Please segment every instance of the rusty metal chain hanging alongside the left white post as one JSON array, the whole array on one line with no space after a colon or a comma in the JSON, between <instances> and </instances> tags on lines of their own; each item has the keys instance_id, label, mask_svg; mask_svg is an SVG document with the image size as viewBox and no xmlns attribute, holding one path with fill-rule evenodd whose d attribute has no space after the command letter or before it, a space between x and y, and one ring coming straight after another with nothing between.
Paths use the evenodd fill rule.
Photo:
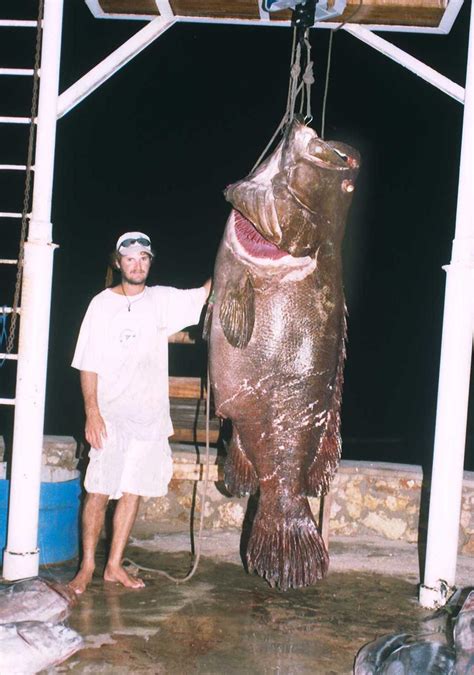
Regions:
<instances>
[{"instance_id":1,"label":"rusty metal chain hanging alongside the left white post","mask_svg":"<svg viewBox=\"0 0 474 675\"><path fill-rule=\"evenodd\" d=\"M23 277L25 240L28 226L28 215L30 210L31 178L32 178L31 166L33 162L33 149L35 145L35 136L36 136L36 116L38 114L39 70L41 63L41 38L42 38L43 15L44 15L44 0L39 0L38 23L36 28L35 69L33 75L33 94L31 100L31 121L30 121L30 133L28 138L28 159L26 163L25 191L23 193L23 209L21 212L20 245L18 250L18 265L16 270L15 294L13 297L13 305L12 305L13 311L10 317L10 329L8 332L8 340L6 346L7 354L11 354L15 344L16 325L18 321L18 303L20 301L21 280Z\"/></svg>"}]
</instances>

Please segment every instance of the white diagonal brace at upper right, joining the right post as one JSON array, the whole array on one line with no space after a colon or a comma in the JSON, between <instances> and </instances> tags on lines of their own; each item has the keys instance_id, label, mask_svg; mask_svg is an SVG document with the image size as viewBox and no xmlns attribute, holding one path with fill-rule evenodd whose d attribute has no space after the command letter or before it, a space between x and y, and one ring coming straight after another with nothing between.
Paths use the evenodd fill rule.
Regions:
<instances>
[{"instance_id":1,"label":"white diagonal brace at upper right, joining the right post","mask_svg":"<svg viewBox=\"0 0 474 675\"><path fill-rule=\"evenodd\" d=\"M373 47L381 54L388 56L389 59L392 59L404 68L410 70L412 73L415 73L415 75L418 75L418 77L421 77L426 82L429 82L434 87L437 87L445 94L448 94L448 96L456 99L456 101L464 103L463 87L461 87L459 84L456 84L448 77L441 75L436 70L434 70L434 68L427 66L426 63L415 59L414 56L410 56L410 54L404 52L403 49L396 47L391 42L384 40L362 26L352 26L350 24L346 24L343 26L342 30L345 30L347 33L350 33L350 35L353 35L357 39L362 40L362 42L365 42L365 44Z\"/></svg>"}]
</instances>

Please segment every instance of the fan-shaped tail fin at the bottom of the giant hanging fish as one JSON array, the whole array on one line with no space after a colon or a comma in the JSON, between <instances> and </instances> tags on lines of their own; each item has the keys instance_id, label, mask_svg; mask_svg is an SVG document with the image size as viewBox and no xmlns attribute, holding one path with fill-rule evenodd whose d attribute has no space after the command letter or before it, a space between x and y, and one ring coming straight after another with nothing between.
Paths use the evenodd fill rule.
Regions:
<instances>
[{"instance_id":1,"label":"fan-shaped tail fin at the bottom of the giant hanging fish","mask_svg":"<svg viewBox=\"0 0 474 675\"><path fill-rule=\"evenodd\" d=\"M289 513L275 506L271 495L261 493L247 548L249 572L283 591L314 584L326 575L329 555L308 500L293 498Z\"/></svg>"}]
</instances>

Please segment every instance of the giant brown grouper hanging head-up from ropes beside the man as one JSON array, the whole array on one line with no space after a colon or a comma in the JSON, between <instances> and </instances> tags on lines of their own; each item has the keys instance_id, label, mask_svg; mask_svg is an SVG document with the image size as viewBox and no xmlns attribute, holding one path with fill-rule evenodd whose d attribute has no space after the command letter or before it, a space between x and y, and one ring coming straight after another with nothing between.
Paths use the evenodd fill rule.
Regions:
<instances>
[{"instance_id":1,"label":"giant brown grouper hanging head-up from ropes beside the man","mask_svg":"<svg viewBox=\"0 0 474 675\"><path fill-rule=\"evenodd\" d=\"M232 204L214 272L210 372L232 421L228 490L259 491L247 566L271 586L321 579L329 557L308 496L327 492L339 433L345 302L341 242L359 154L298 120Z\"/></svg>"}]
</instances>

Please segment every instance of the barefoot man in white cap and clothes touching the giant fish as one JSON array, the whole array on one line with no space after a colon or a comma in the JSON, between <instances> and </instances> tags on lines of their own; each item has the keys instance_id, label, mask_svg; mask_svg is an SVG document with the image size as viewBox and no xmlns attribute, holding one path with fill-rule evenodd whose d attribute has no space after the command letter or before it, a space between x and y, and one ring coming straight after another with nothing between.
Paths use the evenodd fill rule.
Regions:
<instances>
[{"instance_id":1,"label":"barefoot man in white cap and clothes touching the giant fish","mask_svg":"<svg viewBox=\"0 0 474 675\"><path fill-rule=\"evenodd\" d=\"M113 265L120 283L96 295L82 322L72 366L80 370L91 445L82 514L83 557L70 582L83 593L109 499L117 499L105 581L142 588L122 566L141 496L165 495L172 476L168 336L199 321L211 281L179 290L146 286L153 259L143 232L119 237Z\"/></svg>"}]
</instances>

